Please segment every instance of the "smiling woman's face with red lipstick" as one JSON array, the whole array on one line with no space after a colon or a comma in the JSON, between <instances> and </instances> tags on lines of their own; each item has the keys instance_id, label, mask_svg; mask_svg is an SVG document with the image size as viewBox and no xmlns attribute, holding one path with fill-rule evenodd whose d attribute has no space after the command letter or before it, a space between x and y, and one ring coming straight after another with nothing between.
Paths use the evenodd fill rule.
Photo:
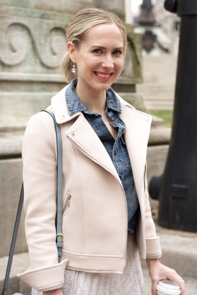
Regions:
<instances>
[{"instance_id":1,"label":"smiling woman's face with red lipstick","mask_svg":"<svg viewBox=\"0 0 197 295\"><path fill-rule=\"evenodd\" d=\"M115 24L100 24L86 32L79 49L74 49L78 84L83 90L105 91L123 68L123 35Z\"/></svg>"}]
</instances>

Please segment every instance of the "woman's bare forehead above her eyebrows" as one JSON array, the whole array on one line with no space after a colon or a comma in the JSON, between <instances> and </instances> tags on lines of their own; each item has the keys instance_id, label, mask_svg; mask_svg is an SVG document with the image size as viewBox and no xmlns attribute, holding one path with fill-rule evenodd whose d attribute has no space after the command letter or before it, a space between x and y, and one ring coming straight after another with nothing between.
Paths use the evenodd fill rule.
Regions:
<instances>
[{"instance_id":1,"label":"woman's bare forehead above her eyebrows","mask_svg":"<svg viewBox=\"0 0 197 295\"><path fill-rule=\"evenodd\" d=\"M123 47L123 34L116 24L99 24L89 28L86 32L84 41L92 45L97 43L113 43L115 46ZM83 43L83 42L82 42Z\"/></svg>"}]
</instances>

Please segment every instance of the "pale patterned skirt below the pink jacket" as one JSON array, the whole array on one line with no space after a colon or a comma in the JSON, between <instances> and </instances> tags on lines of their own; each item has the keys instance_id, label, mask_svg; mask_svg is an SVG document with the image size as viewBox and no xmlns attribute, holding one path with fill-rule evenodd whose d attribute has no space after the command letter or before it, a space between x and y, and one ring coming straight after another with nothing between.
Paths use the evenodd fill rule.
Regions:
<instances>
[{"instance_id":1,"label":"pale patterned skirt below the pink jacket","mask_svg":"<svg viewBox=\"0 0 197 295\"><path fill-rule=\"evenodd\" d=\"M128 234L127 263L123 274L85 273L66 269L64 295L146 295L134 234ZM42 295L32 289L32 295Z\"/></svg>"}]
</instances>

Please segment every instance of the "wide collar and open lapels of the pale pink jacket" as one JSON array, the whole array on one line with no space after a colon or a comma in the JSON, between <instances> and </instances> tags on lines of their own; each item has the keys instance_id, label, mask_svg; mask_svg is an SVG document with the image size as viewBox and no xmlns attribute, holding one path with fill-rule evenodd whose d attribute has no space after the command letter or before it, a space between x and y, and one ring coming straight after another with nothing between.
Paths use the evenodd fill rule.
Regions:
<instances>
[{"instance_id":1,"label":"wide collar and open lapels of the pale pink jacket","mask_svg":"<svg viewBox=\"0 0 197 295\"><path fill-rule=\"evenodd\" d=\"M110 156L82 112L69 115L65 100L66 87L51 99L57 123L66 123L78 117L69 130L67 130L67 138L88 158L101 165L119 180L118 173ZM131 161L137 195L140 196L152 117L149 114L137 111L129 104L127 105L121 98L120 100L122 103L122 113L120 113L120 116L126 124L124 138Z\"/></svg>"}]
</instances>

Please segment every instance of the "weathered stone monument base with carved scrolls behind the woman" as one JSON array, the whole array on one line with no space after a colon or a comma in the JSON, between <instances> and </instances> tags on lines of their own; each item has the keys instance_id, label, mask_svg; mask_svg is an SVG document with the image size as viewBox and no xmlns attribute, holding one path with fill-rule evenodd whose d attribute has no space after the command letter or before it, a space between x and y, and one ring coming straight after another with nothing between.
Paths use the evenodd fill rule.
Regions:
<instances>
[{"instance_id":1,"label":"weathered stone monument base with carved scrolls behind the woman","mask_svg":"<svg viewBox=\"0 0 197 295\"><path fill-rule=\"evenodd\" d=\"M4 0L0 4L0 257L9 254L22 184L21 148L29 118L50 105L65 85L60 63L66 52L65 30L85 7L115 11L124 19L124 0ZM129 27L132 42L115 91L134 92L142 81L141 39ZM25 213L16 253L27 250Z\"/></svg>"}]
</instances>

